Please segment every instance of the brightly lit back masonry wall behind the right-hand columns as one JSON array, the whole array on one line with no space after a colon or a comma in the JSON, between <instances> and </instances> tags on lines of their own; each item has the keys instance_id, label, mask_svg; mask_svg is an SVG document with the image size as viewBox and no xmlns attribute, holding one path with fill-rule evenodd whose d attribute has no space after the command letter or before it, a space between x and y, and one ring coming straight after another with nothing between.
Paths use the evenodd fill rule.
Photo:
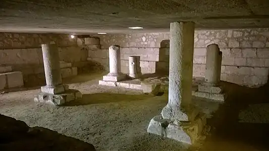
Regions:
<instances>
[{"instance_id":1,"label":"brightly lit back masonry wall behind the right-hand columns","mask_svg":"<svg viewBox=\"0 0 269 151\"><path fill-rule=\"evenodd\" d=\"M106 68L109 65L107 49L117 44L122 47L123 72L128 72L128 57L139 55L143 73L168 73L169 33L95 36L100 38L101 49L89 52L89 57L100 61ZM206 46L217 43L223 52L221 80L249 87L267 82L269 29L195 31L194 36L194 77L204 77Z\"/></svg>"}]
</instances>

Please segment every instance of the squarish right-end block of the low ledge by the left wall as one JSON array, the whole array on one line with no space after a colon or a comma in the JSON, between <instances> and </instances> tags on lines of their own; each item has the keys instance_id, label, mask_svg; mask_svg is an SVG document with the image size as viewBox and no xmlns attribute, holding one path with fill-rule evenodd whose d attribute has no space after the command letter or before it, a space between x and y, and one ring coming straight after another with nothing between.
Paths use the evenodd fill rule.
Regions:
<instances>
[{"instance_id":1,"label":"squarish right-end block of the low ledge by the left wall","mask_svg":"<svg viewBox=\"0 0 269 151\"><path fill-rule=\"evenodd\" d=\"M7 76L9 88L23 87L24 84L23 84L22 72L15 71L15 72L7 72L5 74Z\"/></svg>"}]
</instances>

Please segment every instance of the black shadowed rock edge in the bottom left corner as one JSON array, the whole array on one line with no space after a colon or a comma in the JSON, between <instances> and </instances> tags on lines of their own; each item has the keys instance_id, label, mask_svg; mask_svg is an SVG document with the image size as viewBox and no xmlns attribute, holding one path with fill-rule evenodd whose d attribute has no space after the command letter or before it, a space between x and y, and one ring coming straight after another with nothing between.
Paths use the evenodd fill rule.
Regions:
<instances>
[{"instance_id":1,"label":"black shadowed rock edge in the bottom left corner","mask_svg":"<svg viewBox=\"0 0 269 151\"><path fill-rule=\"evenodd\" d=\"M94 151L92 144L43 127L29 127L23 121L0 114L0 150Z\"/></svg>"}]
</instances>

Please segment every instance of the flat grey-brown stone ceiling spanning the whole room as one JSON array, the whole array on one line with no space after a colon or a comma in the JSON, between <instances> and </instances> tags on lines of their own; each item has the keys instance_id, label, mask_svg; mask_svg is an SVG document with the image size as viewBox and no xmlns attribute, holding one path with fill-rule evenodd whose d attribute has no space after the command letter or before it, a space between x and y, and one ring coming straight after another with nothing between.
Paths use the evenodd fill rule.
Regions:
<instances>
[{"instance_id":1,"label":"flat grey-brown stone ceiling spanning the whole room","mask_svg":"<svg viewBox=\"0 0 269 151\"><path fill-rule=\"evenodd\" d=\"M0 32L131 33L269 27L268 0L1 0ZM143 30L128 27L141 26Z\"/></svg>"}]
</instances>

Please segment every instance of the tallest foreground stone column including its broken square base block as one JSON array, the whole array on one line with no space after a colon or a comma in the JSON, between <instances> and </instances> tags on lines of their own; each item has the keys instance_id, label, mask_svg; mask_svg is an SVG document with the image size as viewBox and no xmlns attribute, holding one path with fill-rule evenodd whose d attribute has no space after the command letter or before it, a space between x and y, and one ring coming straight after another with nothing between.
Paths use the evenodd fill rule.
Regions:
<instances>
[{"instance_id":1,"label":"tallest foreground stone column including its broken square base block","mask_svg":"<svg viewBox=\"0 0 269 151\"><path fill-rule=\"evenodd\" d=\"M149 133L163 135L178 141L193 143L200 131L188 133L189 127L203 126L196 121L198 110L191 105L192 68L194 47L194 23L170 24L169 101L161 115L153 117L148 125ZM184 129L181 126L184 124ZM193 127L192 127L193 128ZM200 128L197 128L200 129Z\"/></svg>"}]
</instances>

